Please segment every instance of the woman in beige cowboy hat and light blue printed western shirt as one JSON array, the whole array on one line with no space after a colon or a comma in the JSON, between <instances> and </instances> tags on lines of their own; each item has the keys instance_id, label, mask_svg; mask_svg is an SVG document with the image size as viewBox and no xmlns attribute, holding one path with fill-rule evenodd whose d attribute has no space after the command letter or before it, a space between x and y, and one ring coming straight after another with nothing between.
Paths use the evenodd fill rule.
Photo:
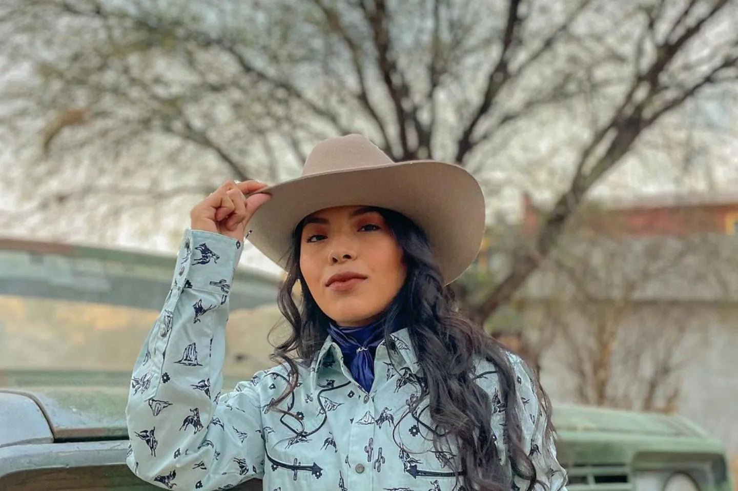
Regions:
<instances>
[{"instance_id":1,"label":"woman in beige cowboy hat and light blue printed western shirt","mask_svg":"<svg viewBox=\"0 0 738 491\"><path fill-rule=\"evenodd\" d=\"M270 491L564 487L537 380L446 288L484 230L462 168L392 162L349 135L319 143L300 179L227 182L190 218L128 398L140 478L177 490L250 478ZM277 300L292 335L277 367L221 395L244 233L287 271Z\"/></svg>"}]
</instances>

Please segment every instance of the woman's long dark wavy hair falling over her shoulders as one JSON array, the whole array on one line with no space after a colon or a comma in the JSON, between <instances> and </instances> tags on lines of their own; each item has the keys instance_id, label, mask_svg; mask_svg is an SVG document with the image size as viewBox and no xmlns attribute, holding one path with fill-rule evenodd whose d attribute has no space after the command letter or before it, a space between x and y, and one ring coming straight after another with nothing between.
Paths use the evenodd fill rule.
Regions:
<instances>
[{"instance_id":1,"label":"woman's long dark wavy hair falling over her shoulders","mask_svg":"<svg viewBox=\"0 0 738 491\"><path fill-rule=\"evenodd\" d=\"M475 361L483 359L497 368L499 396L507 407L503 442L507 445L512 474L528 481L528 491L537 482L545 488L528 456L529 449L523 447L517 376L508 350L459 312L451 289L444 286L424 231L401 213L384 208L376 211L384 217L402 248L407 266L407 279L384 315L384 337L387 346L392 346L393 326L407 326L424 378L421 396L414 407L427 400L432 421L438 430L443 430L444 443L452 442L458 448L459 461L447 464L461 475L466 489L511 489L512 476L500 464L493 440L492 402L489 394L472 380ZM292 325L292 333L275 346L272 355L273 360L291 368L286 391L272 402L275 408L297 386L297 364L314 360L328 336L326 326L330 319L314 301L300 272L302 231L303 222L300 222L293 233L287 278L277 297L280 312ZM302 289L299 306L293 295L298 281ZM553 438L551 405L536 377L531 378L545 416L544 444L548 445ZM436 449L442 446L438 435L436 432L433 438Z\"/></svg>"}]
</instances>

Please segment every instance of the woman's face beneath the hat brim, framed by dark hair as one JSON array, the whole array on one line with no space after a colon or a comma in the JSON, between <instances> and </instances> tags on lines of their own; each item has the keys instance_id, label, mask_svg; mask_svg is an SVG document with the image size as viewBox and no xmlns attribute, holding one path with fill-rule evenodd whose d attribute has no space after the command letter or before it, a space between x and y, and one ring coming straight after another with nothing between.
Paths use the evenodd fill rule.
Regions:
<instances>
[{"instance_id":1,"label":"woman's face beneath the hat brim, framed by dark hair","mask_svg":"<svg viewBox=\"0 0 738 491\"><path fill-rule=\"evenodd\" d=\"M300 271L323 313L345 327L377 320L407 275L382 215L341 206L312 213L304 224Z\"/></svg>"}]
</instances>

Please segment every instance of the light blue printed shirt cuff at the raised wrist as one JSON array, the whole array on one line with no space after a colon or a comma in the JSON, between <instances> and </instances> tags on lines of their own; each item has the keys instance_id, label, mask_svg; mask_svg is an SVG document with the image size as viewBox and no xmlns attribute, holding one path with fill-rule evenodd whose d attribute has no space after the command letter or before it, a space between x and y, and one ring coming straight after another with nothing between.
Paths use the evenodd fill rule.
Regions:
<instances>
[{"instance_id":1,"label":"light blue printed shirt cuff at the raised wrist","mask_svg":"<svg viewBox=\"0 0 738 491\"><path fill-rule=\"evenodd\" d=\"M187 228L173 285L227 294L243 250L244 243L238 239Z\"/></svg>"}]
</instances>

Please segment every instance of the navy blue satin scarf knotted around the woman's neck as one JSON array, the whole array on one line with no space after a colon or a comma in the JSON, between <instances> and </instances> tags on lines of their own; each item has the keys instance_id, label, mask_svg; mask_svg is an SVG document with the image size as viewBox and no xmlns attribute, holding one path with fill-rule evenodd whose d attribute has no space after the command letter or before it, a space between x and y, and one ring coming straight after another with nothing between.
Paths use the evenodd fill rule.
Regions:
<instances>
[{"instance_id":1,"label":"navy blue satin scarf knotted around the woman's neck","mask_svg":"<svg viewBox=\"0 0 738 491\"><path fill-rule=\"evenodd\" d=\"M354 380L369 392L374 382L374 354L384 340L382 319L362 327L338 327L331 323L328 334L341 348L343 363Z\"/></svg>"}]
</instances>

